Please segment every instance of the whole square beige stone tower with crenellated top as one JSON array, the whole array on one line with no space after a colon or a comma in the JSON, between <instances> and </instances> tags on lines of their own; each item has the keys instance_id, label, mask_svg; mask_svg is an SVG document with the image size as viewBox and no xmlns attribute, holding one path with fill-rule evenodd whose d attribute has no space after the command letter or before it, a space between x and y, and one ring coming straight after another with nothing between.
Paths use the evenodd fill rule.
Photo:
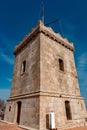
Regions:
<instances>
[{"instance_id":1,"label":"whole square beige stone tower with crenellated top","mask_svg":"<svg viewBox=\"0 0 87 130\"><path fill-rule=\"evenodd\" d=\"M5 121L46 130L54 112L55 127L60 130L85 123L73 52L72 43L38 23L15 48Z\"/></svg>"}]
</instances>

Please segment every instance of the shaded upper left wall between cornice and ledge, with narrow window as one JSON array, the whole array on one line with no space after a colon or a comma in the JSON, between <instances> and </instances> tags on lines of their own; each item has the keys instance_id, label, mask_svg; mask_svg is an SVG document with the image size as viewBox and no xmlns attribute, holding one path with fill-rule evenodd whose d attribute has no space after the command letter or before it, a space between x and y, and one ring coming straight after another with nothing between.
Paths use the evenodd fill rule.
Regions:
<instances>
[{"instance_id":1,"label":"shaded upper left wall between cornice and ledge, with narrow window","mask_svg":"<svg viewBox=\"0 0 87 130\"><path fill-rule=\"evenodd\" d=\"M24 60L26 60L26 71L21 73ZM40 42L38 36L15 57L11 97L38 91L39 87Z\"/></svg>"}]
</instances>

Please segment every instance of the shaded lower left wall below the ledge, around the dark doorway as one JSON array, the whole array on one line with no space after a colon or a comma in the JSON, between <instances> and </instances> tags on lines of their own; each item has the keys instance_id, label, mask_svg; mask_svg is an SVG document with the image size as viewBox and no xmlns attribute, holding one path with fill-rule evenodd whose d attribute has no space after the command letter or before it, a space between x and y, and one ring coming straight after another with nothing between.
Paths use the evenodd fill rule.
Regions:
<instances>
[{"instance_id":1,"label":"shaded lower left wall below the ledge, around the dark doorway","mask_svg":"<svg viewBox=\"0 0 87 130\"><path fill-rule=\"evenodd\" d=\"M29 97L26 99L18 99L9 101L6 105L5 121L17 123L17 102L21 101L20 125L29 126L31 128L39 128L39 97ZM10 111L9 108L11 107Z\"/></svg>"}]
</instances>

